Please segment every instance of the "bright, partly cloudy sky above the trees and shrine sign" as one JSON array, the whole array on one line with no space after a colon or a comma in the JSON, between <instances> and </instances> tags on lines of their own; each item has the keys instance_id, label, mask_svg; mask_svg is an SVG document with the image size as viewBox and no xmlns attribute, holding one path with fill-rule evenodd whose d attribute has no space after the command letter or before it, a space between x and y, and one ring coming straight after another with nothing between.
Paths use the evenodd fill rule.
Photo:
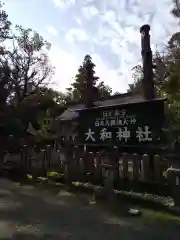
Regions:
<instances>
[{"instance_id":1,"label":"bright, partly cloudy sky above the trees and shrine sign","mask_svg":"<svg viewBox=\"0 0 180 240\"><path fill-rule=\"evenodd\" d=\"M13 24L33 28L52 47L53 87L64 91L86 54L113 92L126 92L132 67L141 62L140 33L151 26L152 50L162 50L178 31L172 0L6 0Z\"/></svg>"}]
</instances>

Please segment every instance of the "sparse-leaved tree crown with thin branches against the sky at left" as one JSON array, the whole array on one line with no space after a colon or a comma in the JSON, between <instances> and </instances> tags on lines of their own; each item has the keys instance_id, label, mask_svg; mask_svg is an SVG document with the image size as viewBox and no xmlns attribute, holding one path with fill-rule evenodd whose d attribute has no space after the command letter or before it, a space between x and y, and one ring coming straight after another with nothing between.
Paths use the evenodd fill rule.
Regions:
<instances>
[{"instance_id":1,"label":"sparse-leaved tree crown with thin branches against the sky at left","mask_svg":"<svg viewBox=\"0 0 180 240\"><path fill-rule=\"evenodd\" d=\"M49 83L53 74L47 55L50 44L32 29L17 25L9 45L8 50L4 49L4 54L0 55L4 79L1 83L8 90L8 101L19 104L32 91Z\"/></svg>"}]
</instances>

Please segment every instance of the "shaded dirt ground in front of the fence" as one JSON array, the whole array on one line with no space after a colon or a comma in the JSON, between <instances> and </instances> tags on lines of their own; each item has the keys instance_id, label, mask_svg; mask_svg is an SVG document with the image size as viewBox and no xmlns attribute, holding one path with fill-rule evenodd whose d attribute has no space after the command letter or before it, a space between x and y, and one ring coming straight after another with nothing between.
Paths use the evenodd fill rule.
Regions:
<instances>
[{"instance_id":1,"label":"shaded dirt ground in front of the fence","mask_svg":"<svg viewBox=\"0 0 180 240\"><path fill-rule=\"evenodd\" d=\"M150 216L151 215L151 216ZM178 219L112 213L87 195L0 179L0 239L179 239Z\"/></svg>"}]
</instances>

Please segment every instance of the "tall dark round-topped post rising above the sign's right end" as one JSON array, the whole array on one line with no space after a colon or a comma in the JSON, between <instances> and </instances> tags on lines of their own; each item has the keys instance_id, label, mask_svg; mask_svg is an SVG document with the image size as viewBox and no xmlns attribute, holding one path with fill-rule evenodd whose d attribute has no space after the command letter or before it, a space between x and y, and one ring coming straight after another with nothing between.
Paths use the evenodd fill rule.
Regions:
<instances>
[{"instance_id":1,"label":"tall dark round-topped post rising above the sign's right end","mask_svg":"<svg viewBox=\"0 0 180 240\"><path fill-rule=\"evenodd\" d=\"M154 82L153 82L153 64L152 64L152 51L150 47L150 26L143 25L140 28L141 33L141 55L143 61L143 73L144 77L142 80L142 88L144 98L146 100L153 99L154 93Z\"/></svg>"}]
</instances>

